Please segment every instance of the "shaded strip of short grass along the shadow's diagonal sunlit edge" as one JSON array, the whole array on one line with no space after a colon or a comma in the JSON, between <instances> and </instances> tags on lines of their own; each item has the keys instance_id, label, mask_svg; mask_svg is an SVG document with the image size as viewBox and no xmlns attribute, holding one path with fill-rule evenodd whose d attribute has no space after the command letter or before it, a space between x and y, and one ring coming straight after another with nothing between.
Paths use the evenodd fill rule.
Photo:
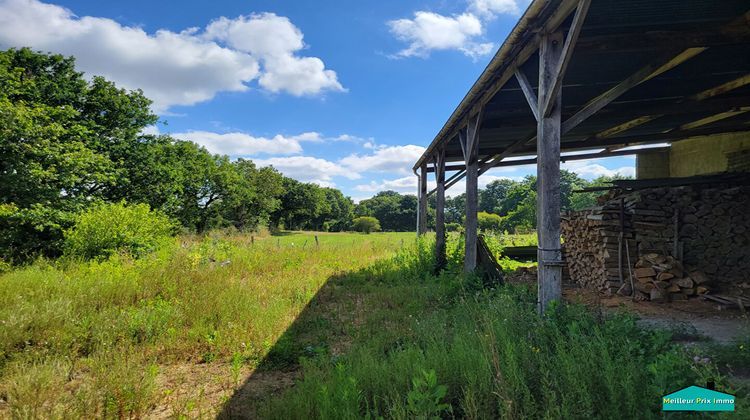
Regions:
<instances>
[{"instance_id":1,"label":"shaded strip of short grass along the shadow's diagonal sunlit edge","mask_svg":"<svg viewBox=\"0 0 750 420\"><path fill-rule=\"evenodd\" d=\"M315 296L305 305L294 322L274 343L252 375L235 390L217 416L220 419L257 418L264 400L289 389L301 376L300 358L333 356L350 344L348 328L357 320L352 305L358 282L354 277L366 269L328 278ZM351 318L350 318L351 317Z\"/></svg>"}]
</instances>

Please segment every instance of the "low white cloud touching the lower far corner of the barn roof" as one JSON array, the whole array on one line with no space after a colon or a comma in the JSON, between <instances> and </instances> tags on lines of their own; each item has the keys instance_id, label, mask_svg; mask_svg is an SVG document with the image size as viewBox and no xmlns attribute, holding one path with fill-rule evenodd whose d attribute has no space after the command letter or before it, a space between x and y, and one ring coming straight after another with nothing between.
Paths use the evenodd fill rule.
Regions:
<instances>
[{"instance_id":1,"label":"low white cloud touching the lower far corner of the barn roof","mask_svg":"<svg viewBox=\"0 0 750 420\"><path fill-rule=\"evenodd\" d=\"M425 148L413 144L379 147L370 155L352 154L340 163L357 172L392 172L408 174Z\"/></svg>"}]
</instances>

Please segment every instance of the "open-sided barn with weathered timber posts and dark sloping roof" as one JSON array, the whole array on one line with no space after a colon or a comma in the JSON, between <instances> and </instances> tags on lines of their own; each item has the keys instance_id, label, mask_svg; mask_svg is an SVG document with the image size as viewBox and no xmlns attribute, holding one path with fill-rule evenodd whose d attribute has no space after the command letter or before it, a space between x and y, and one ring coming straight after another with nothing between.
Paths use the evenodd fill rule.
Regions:
<instances>
[{"instance_id":1,"label":"open-sided barn with weathered timber posts and dark sloping roof","mask_svg":"<svg viewBox=\"0 0 750 420\"><path fill-rule=\"evenodd\" d=\"M595 234L614 242L588 241L592 249L564 258L560 161L625 154L637 154L637 180L617 185L610 202L586 216L609 226ZM536 163L538 174L541 310L560 298L564 265L573 280L595 277L601 288L607 281L607 288L619 289L628 279L647 279L647 292L633 282L631 293L649 297L654 289L675 293L671 279L630 272L682 265L662 258L684 258L701 275L722 277L716 280L747 280L748 177L701 176L750 169L750 4L533 1L414 165L420 232L427 229L427 197L437 194L439 261L445 252L445 189L466 179L465 268L473 270L477 177L493 167L528 163ZM427 190L428 173L437 180L433 191ZM568 229L566 244L574 244L581 230ZM583 256L606 250L617 254L616 265ZM635 261L628 263L628 257ZM700 285L691 280L684 289L696 293Z\"/></svg>"}]
</instances>

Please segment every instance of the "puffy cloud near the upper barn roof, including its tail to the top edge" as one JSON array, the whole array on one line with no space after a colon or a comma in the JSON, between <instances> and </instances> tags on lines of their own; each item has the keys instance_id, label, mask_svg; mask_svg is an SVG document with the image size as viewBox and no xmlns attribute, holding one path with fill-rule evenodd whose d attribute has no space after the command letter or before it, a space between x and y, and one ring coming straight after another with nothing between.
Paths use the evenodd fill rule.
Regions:
<instances>
[{"instance_id":1,"label":"puffy cloud near the upper barn roof, including its tail to the top edge","mask_svg":"<svg viewBox=\"0 0 750 420\"><path fill-rule=\"evenodd\" d=\"M417 11L411 19L387 22L391 34L407 47L394 57L427 57L431 51L456 50L476 59L492 53L494 44L484 42L484 26L500 14L517 15L529 0L469 0L465 12L446 16Z\"/></svg>"}]
</instances>

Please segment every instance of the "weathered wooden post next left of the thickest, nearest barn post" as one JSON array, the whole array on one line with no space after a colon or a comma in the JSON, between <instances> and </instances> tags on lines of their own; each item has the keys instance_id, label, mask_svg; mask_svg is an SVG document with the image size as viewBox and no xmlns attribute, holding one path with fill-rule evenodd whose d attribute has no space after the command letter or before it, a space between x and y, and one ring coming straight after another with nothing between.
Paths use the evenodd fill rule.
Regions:
<instances>
[{"instance_id":1,"label":"weathered wooden post next left of the thickest, nearest barn post","mask_svg":"<svg viewBox=\"0 0 750 420\"><path fill-rule=\"evenodd\" d=\"M466 164L466 249L464 252L464 271L470 273L477 266L477 208L479 207L479 194L477 191L477 178L479 177L479 126L481 125L482 113L476 118L471 118L465 132L459 131L459 142L464 154Z\"/></svg>"}]
</instances>

